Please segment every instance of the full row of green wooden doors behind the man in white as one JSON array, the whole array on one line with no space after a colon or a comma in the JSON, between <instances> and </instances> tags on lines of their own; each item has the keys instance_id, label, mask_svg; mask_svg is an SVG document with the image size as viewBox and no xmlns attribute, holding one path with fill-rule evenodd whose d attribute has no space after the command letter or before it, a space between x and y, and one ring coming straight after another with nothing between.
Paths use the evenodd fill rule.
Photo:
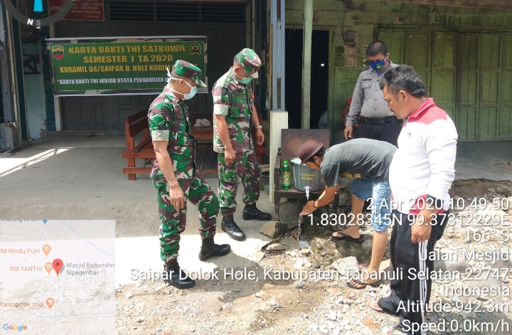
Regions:
<instances>
[{"instance_id":1,"label":"full row of green wooden doors behind the man in white","mask_svg":"<svg viewBox=\"0 0 512 335\"><path fill-rule=\"evenodd\" d=\"M462 141L512 140L512 36L381 29L395 63L412 65Z\"/></svg>"}]
</instances>

